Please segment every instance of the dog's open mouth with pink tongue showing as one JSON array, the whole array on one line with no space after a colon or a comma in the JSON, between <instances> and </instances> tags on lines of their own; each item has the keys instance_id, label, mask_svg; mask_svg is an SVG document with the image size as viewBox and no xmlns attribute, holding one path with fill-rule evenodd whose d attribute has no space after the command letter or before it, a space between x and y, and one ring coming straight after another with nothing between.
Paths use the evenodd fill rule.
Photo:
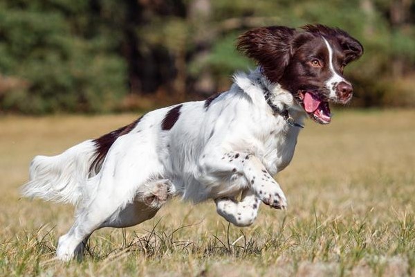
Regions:
<instances>
[{"instance_id":1,"label":"dog's open mouth with pink tongue showing","mask_svg":"<svg viewBox=\"0 0 415 277\"><path fill-rule=\"evenodd\" d=\"M320 124L329 124L331 122L331 112L329 102L322 100L315 93L310 91L299 91L297 97L308 116Z\"/></svg>"}]
</instances>

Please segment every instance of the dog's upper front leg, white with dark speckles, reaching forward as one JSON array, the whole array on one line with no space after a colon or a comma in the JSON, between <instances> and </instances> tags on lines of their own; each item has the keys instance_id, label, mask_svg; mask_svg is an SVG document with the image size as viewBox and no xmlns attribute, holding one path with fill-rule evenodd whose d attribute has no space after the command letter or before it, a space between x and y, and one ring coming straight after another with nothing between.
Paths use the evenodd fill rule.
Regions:
<instances>
[{"instance_id":1,"label":"dog's upper front leg, white with dark speckles, reaching forward","mask_svg":"<svg viewBox=\"0 0 415 277\"><path fill-rule=\"evenodd\" d=\"M199 181L214 184L223 179L245 177L246 188L250 188L264 204L273 208L286 208L286 197L282 189L257 157L243 152L204 156L198 165Z\"/></svg>"}]
</instances>

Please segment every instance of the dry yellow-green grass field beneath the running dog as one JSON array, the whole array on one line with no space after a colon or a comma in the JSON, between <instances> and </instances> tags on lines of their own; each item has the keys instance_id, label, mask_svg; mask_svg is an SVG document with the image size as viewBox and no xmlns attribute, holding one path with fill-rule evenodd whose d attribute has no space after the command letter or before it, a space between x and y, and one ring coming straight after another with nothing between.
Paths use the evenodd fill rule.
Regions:
<instances>
[{"instance_id":1,"label":"dry yellow-green grass field beneath the running dog","mask_svg":"<svg viewBox=\"0 0 415 277\"><path fill-rule=\"evenodd\" d=\"M71 206L20 199L35 154L57 154L136 115L0 118L1 276L415 276L415 111L338 111L306 123L277 176L288 211L230 226L212 202L174 200L129 229L92 235L83 262L54 260Z\"/></svg>"}]
</instances>

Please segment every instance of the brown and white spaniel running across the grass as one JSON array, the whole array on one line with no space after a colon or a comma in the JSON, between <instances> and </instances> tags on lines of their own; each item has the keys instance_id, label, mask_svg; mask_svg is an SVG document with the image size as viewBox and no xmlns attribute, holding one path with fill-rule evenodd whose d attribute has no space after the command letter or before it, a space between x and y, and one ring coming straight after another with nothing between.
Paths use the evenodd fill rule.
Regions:
<instances>
[{"instance_id":1,"label":"brown and white spaniel running across the grass","mask_svg":"<svg viewBox=\"0 0 415 277\"><path fill-rule=\"evenodd\" d=\"M287 207L273 176L291 162L305 118L328 124L329 102L351 100L343 69L363 47L339 28L306 25L248 30L237 49L258 66L234 75L228 91L150 111L62 154L33 159L22 194L76 206L58 259L82 258L93 231L149 220L175 195L213 199L236 226L252 224L261 203Z\"/></svg>"}]
</instances>

